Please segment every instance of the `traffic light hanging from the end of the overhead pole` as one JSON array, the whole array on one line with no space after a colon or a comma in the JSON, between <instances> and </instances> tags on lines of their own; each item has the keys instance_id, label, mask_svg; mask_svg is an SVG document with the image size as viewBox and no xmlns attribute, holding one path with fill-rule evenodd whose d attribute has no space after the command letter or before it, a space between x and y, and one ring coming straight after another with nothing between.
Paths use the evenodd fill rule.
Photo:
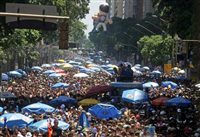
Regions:
<instances>
[{"instance_id":1,"label":"traffic light hanging from the end of the overhead pole","mask_svg":"<svg viewBox=\"0 0 200 137\"><path fill-rule=\"evenodd\" d=\"M59 49L69 48L69 23L67 21L62 21L59 23Z\"/></svg>"}]
</instances>

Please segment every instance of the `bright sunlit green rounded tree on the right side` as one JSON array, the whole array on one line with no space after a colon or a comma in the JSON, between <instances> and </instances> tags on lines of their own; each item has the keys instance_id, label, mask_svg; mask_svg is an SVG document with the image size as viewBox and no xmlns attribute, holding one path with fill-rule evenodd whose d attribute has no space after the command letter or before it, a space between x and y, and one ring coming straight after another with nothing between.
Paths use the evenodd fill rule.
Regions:
<instances>
[{"instance_id":1,"label":"bright sunlit green rounded tree on the right side","mask_svg":"<svg viewBox=\"0 0 200 137\"><path fill-rule=\"evenodd\" d=\"M175 40L171 36L152 35L142 37L138 44L145 60L150 60L153 65L163 65L171 57Z\"/></svg>"}]
</instances>

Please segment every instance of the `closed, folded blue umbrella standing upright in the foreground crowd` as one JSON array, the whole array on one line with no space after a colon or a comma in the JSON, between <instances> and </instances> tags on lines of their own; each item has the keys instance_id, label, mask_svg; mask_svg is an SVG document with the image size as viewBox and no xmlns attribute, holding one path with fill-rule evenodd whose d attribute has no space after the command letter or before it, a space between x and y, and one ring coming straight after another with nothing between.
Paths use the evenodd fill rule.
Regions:
<instances>
[{"instance_id":1,"label":"closed, folded blue umbrella standing upright in the foreground crowd","mask_svg":"<svg viewBox=\"0 0 200 137\"><path fill-rule=\"evenodd\" d=\"M87 118L87 115L86 115L85 112L82 112L81 115L79 116L79 120L78 120L78 125L77 126L81 126L83 129L90 127L90 123L88 121L88 118Z\"/></svg>"}]
</instances>

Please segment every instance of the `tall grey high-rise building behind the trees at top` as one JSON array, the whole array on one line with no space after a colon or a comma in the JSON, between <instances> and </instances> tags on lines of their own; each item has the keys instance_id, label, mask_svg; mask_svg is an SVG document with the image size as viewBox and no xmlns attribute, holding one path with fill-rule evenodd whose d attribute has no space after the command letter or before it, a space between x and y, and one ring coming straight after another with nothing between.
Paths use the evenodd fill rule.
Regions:
<instances>
[{"instance_id":1,"label":"tall grey high-rise building behind the trees at top","mask_svg":"<svg viewBox=\"0 0 200 137\"><path fill-rule=\"evenodd\" d=\"M137 20L145 18L146 14L154 12L152 0L106 0L110 5L110 17L129 18Z\"/></svg>"}]
</instances>

